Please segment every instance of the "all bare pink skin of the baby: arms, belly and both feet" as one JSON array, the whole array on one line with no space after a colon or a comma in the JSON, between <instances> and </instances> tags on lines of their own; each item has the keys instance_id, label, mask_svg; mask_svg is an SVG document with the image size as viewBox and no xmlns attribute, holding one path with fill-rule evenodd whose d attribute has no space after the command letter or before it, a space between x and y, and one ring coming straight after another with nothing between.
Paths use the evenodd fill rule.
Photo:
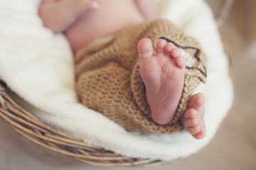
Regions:
<instances>
[{"instance_id":1,"label":"all bare pink skin of the baby: arms, belly and both feet","mask_svg":"<svg viewBox=\"0 0 256 170\"><path fill-rule=\"evenodd\" d=\"M75 53L97 38L154 19L156 7L154 0L43 0L39 15L53 32L65 33ZM158 40L156 55L147 38L140 40L137 47L152 118L165 125L174 118L181 98L186 61L174 44L166 40ZM204 103L203 94L194 94L181 118L183 128L196 139L206 135Z\"/></svg>"}]
</instances>

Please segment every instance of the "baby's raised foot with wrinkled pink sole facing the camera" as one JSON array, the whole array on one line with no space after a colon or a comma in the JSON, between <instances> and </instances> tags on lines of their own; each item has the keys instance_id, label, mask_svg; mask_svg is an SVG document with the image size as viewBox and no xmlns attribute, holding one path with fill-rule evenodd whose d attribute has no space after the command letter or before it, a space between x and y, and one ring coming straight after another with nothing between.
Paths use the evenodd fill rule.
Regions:
<instances>
[{"instance_id":1,"label":"baby's raised foot with wrinkled pink sole facing the camera","mask_svg":"<svg viewBox=\"0 0 256 170\"><path fill-rule=\"evenodd\" d=\"M159 39L154 56L151 40L138 44L140 74L146 86L146 99L153 120L160 125L169 123L178 106L184 84L186 62L171 42Z\"/></svg>"}]
</instances>

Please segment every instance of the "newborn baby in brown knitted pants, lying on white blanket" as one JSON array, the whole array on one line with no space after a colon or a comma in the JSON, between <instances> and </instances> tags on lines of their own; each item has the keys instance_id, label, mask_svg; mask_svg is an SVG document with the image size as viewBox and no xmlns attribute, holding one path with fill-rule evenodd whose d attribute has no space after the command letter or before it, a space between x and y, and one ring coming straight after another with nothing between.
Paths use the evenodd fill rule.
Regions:
<instances>
[{"instance_id":1,"label":"newborn baby in brown knitted pants, lying on white blanket","mask_svg":"<svg viewBox=\"0 0 256 170\"><path fill-rule=\"evenodd\" d=\"M191 94L206 81L206 57L172 23L152 21L154 1L43 0L39 12L76 54L81 103L129 131L204 137L205 99Z\"/></svg>"}]
</instances>

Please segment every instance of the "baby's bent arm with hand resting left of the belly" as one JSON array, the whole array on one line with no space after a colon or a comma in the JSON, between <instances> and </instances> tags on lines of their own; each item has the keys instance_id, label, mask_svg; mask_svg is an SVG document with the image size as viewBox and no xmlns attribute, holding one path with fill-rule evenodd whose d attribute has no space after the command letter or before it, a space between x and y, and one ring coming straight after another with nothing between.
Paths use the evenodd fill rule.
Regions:
<instances>
[{"instance_id":1,"label":"baby's bent arm with hand resting left of the belly","mask_svg":"<svg viewBox=\"0 0 256 170\"><path fill-rule=\"evenodd\" d=\"M45 26L59 33L65 31L82 13L99 5L100 0L43 0L39 16Z\"/></svg>"}]
</instances>

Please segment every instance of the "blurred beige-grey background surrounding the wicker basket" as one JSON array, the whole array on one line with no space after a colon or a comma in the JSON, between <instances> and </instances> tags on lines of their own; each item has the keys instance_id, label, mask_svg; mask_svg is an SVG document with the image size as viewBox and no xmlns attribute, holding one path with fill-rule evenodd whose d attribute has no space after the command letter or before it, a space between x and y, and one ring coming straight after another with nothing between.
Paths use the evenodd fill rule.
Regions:
<instances>
[{"instance_id":1,"label":"blurred beige-grey background surrounding the wicker basket","mask_svg":"<svg viewBox=\"0 0 256 170\"><path fill-rule=\"evenodd\" d=\"M218 13L223 3L223 0L206 1L214 13ZM223 13L223 20L218 24L232 66L233 108L210 144L198 154L175 164L145 169L256 169L256 0L228 1L233 6L229 13ZM0 170L131 169L79 163L63 165L43 151L28 149L31 143L24 143L23 138L0 120Z\"/></svg>"}]
</instances>

